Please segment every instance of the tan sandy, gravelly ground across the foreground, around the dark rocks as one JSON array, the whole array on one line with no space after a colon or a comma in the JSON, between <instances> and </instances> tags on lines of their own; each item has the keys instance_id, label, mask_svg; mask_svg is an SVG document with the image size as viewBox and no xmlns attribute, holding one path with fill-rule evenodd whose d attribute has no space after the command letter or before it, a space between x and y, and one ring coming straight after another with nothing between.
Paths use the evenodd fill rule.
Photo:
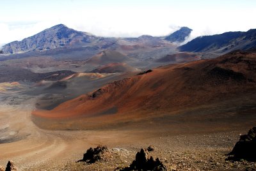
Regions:
<instances>
[{"instance_id":1,"label":"tan sandy, gravelly ground across the foreground, around the dark rocks","mask_svg":"<svg viewBox=\"0 0 256 171\"><path fill-rule=\"evenodd\" d=\"M0 144L0 165L13 160L19 170L115 170L127 167L137 151L154 145L168 170L253 170L255 163L225 161L225 154L239 139L241 131L175 134L145 130L41 130L31 121L35 98L20 105L0 103L0 137L14 142ZM186 128L188 129L188 128ZM236 129L235 129L236 130ZM239 128L237 128L239 130ZM108 145L113 153L107 161L92 165L76 163L89 147Z\"/></svg>"}]
</instances>

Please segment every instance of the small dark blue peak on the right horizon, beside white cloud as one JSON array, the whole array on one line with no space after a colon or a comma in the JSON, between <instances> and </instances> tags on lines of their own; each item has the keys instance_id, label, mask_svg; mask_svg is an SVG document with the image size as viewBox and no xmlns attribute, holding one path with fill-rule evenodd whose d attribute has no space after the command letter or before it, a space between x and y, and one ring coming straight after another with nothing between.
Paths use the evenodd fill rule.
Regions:
<instances>
[{"instance_id":1,"label":"small dark blue peak on the right horizon, beside white cloud","mask_svg":"<svg viewBox=\"0 0 256 171\"><path fill-rule=\"evenodd\" d=\"M192 29L189 29L189 27L181 27L178 31L175 31L174 33L170 34L169 36L166 36L166 38L164 38L164 39L171 41L171 42L181 43L185 40L186 37L189 36L191 31L192 31Z\"/></svg>"}]
</instances>

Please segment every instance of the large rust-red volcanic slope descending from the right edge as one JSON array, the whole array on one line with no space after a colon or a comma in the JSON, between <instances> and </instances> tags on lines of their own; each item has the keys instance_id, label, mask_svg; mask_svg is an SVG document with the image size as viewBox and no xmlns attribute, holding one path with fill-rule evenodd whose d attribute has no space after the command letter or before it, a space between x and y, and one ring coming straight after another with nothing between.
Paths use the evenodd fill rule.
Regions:
<instances>
[{"instance_id":1,"label":"large rust-red volcanic slope descending from the right edge","mask_svg":"<svg viewBox=\"0 0 256 171\"><path fill-rule=\"evenodd\" d=\"M35 110L33 115L52 119L111 115L112 119L125 119L168 114L255 93L256 54L232 52L124 78L53 110Z\"/></svg>"}]
</instances>

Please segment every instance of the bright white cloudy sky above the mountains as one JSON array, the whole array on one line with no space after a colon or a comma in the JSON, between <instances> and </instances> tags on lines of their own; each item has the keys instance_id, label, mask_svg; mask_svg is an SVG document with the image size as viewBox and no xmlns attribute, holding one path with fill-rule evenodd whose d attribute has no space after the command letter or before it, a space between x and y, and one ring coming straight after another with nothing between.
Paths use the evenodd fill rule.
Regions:
<instances>
[{"instance_id":1,"label":"bright white cloudy sky above the mountains","mask_svg":"<svg viewBox=\"0 0 256 171\"><path fill-rule=\"evenodd\" d=\"M255 0L1 0L0 47L57 24L96 36L191 37L256 29Z\"/></svg>"}]
</instances>

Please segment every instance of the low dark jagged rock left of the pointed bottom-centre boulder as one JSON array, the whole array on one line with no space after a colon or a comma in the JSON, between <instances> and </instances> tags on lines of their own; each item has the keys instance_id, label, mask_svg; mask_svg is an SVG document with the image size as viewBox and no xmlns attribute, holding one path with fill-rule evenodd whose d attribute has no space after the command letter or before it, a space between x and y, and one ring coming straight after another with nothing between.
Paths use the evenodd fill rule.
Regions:
<instances>
[{"instance_id":1,"label":"low dark jagged rock left of the pointed bottom-centre boulder","mask_svg":"<svg viewBox=\"0 0 256 171\"><path fill-rule=\"evenodd\" d=\"M106 146L99 145L94 149L90 147L90 149L84 153L83 160L81 161L85 161L86 163L95 163L103 158L103 154L105 152L109 152L108 147Z\"/></svg>"}]
</instances>

